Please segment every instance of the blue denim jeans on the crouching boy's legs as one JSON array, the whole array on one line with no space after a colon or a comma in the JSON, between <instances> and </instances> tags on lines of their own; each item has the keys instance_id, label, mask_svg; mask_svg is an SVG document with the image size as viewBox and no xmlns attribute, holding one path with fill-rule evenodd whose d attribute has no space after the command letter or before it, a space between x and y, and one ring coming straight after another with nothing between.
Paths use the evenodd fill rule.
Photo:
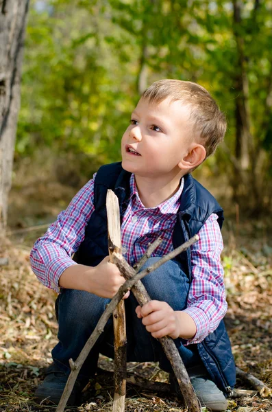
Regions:
<instances>
[{"instance_id":1,"label":"blue denim jeans on the crouching boy's legs","mask_svg":"<svg viewBox=\"0 0 272 412\"><path fill-rule=\"evenodd\" d=\"M160 258L149 258L143 268L151 266ZM151 299L166 301L173 310L184 310L190 287L188 277L181 270L179 262L170 260L142 279ZM59 323L59 343L53 348L53 361L69 370L69 358L74 361L95 329L101 314L110 299L105 299L82 290L63 289L56 302ZM138 303L132 293L125 299L127 325L127 361L159 362L164 371L170 372L171 365L166 358L160 342L145 329L141 319L136 316ZM90 351L82 369L81 376L95 374L99 353L114 358L112 317L108 320L103 333ZM175 339L175 345L186 367L201 364L196 345L184 346L183 339Z\"/></svg>"}]
</instances>

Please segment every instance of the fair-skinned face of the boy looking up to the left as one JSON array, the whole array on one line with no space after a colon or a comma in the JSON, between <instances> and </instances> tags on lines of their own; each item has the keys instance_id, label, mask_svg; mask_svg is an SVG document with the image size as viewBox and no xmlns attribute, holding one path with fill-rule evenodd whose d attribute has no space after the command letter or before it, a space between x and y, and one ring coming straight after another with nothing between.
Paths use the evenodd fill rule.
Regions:
<instances>
[{"instance_id":1,"label":"fair-skinned face of the boy looking up to the left","mask_svg":"<svg viewBox=\"0 0 272 412\"><path fill-rule=\"evenodd\" d=\"M182 175L180 161L193 144L189 116L190 108L178 100L150 104L141 98L122 137L123 168L154 179Z\"/></svg>"}]
</instances>

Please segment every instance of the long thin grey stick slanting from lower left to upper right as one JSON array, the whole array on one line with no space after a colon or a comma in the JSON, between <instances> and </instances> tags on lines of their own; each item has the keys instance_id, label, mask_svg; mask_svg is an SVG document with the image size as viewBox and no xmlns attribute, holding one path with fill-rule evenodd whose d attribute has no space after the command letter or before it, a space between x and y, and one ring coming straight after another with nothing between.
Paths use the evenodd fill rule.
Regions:
<instances>
[{"instance_id":1,"label":"long thin grey stick slanting from lower left to upper right","mask_svg":"<svg viewBox=\"0 0 272 412\"><path fill-rule=\"evenodd\" d=\"M178 255L182 251L186 250L186 248L190 247L193 243L197 242L198 239L199 239L199 237L196 235L193 238L191 238L190 240L188 240L188 242L184 243L183 245L181 245L180 247L175 249L175 251L177 251L176 255ZM113 255L112 255L113 259L114 259L115 254L116 253L113 253ZM117 253L117 255L119 255L119 254ZM166 255L166 256L169 256L169 255L172 256L173 252L168 253L168 255ZM175 257L175 254L174 254L173 257ZM121 258L123 258L123 257L121 256ZM155 268L159 267L160 266L159 262L161 262L161 261L162 261L162 259L160 259L158 262L156 262L156 264L153 265L153 268L155 269ZM164 262L165 262L165 260L164 260ZM134 269L130 266L129 266L129 269L134 271ZM80 352L79 356L77 357L77 360L75 362L71 361L71 373L70 373L69 378L66 382L66 386L65 386L64 391L62 393L62 397L60 398L60 402L58 404L56 412L63 412L64 411L67 400L69 400L69 396L71 395L71 391L73 390L73 387L75 385L75 380L77 379L77 375L79 374L79 371L80 371L84 361L86 360L90 350L92 349L93 345L95 345L95 342L99 338L100 334L103 332L103 328L106 325L108 319L110 318L112 312L114 311L114 308L116 307L116 305L119 303L119 301L121 301L121 299L123 299L123 296L125 295L127 290L131 289L132 286L134 284L136 284L136 282L138 282L138 280L143 279L143 277L145 277L150 272L151 272L151 268L147 268L147 269L145 269L145 271L141 271L140 273L137 273L134 276L134 278L128 279L121 286L121 288L119 288L119 291L116 293L116 295L114 295L114 297L112 298L112 300L108 304L106 310L101 315L101 318L97 322L97 326L95 327L95 330L90 335L88 341L86 341L86 344L84 345L84 347L82 349L82 352ZM199 412L200 409L195 409L195 410L192 409L192 412L194 412L194 411Z\"/></svg>"}]
</instances>

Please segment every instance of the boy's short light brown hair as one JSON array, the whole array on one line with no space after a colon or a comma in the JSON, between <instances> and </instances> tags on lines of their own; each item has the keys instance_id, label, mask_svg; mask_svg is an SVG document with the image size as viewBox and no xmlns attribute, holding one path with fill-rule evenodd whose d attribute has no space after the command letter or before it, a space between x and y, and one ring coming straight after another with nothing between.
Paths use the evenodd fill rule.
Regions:
<instances>
[{"instance_id":1,"label":"boy's short light brown hair","mask_svg":"<svg viewBox=\"0 0 272 412\"><path fill-rule=\"evenodd\" d=\"M194 131L199 133L206 148L206 158L212 155L223 141L227 129L225 115L210 93L199 84L173 79L159 80L151 84L142 98L151 103L160 103L171 98L172 102L180 100L190 107L190 119Z\"/></svg>"}]
</instances>

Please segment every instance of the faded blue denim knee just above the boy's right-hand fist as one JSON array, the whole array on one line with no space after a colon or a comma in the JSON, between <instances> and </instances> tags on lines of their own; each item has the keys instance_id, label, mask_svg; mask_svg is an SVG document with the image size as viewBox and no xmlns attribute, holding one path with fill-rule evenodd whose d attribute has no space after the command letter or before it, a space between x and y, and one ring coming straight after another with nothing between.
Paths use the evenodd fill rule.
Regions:
<instances>
[{"instance_id":1,"label":"faded blue denim knee just above the boy's right-hand fist","mask_svg":"<svg viewBox=\"0 0 272 412\"><path fill-rule=\"evenodd\" d=\"M160 258L149 258L143 269L151 266ZM142 269L142 270L143 270ZM173 310L184 310L187 304L190 282L182 271L180 262L169 260L156 271L142 279L149 296L153 300L166 301Z\"/></svg>"}]
</instances>

